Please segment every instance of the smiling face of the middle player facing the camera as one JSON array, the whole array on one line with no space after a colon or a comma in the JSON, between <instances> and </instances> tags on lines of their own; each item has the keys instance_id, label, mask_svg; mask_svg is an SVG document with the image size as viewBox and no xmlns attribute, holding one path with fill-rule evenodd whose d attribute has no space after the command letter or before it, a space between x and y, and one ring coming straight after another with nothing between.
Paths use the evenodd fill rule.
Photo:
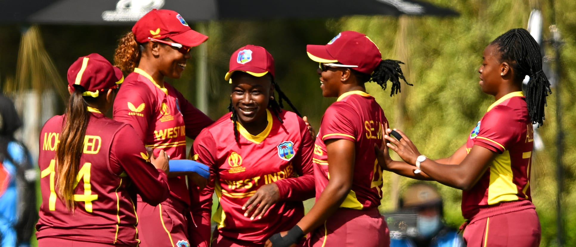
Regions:
<instances>
[{"instance_id":1,"label":"smiling face of the middle player facing the camera","mask_svg":"<svg viewBox=\"0 0 576 247\"><path fill-rule=\"evenodd\" d=\"M263 77L255 77L241 71L234 72L230 97L242 126L266 126L266 109L273 90L269 73Z\"/></svg>"}]
</instances>

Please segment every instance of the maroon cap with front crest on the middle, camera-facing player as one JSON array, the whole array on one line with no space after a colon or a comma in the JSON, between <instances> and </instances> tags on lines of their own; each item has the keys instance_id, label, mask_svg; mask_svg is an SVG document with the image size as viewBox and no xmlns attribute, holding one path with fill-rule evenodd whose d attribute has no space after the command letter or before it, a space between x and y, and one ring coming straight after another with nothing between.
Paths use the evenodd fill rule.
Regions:
<instances>
[{"instance_id":1,"label":"maroon cap with front crest on the middle, camera-facing player","mask_svg":"<svg viewBox=\"0 0 576 247\"><path fill-rule=\"evenodd\" d=\"M234 71L244 71L255 77L270 73L274 77L274 58L264 47L249 44L230 56L230 69L224 79L228 81Z\"/></svg>"}]
</instances>

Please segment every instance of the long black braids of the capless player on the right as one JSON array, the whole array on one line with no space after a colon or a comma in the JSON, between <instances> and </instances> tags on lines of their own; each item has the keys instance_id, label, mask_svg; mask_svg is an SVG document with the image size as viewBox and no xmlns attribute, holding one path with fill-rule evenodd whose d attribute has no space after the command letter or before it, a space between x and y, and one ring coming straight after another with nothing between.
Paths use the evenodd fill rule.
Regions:
<instances>
[{"instance_id":1,"label":"long black braids of the capless player on the right","mask_svg":"<svg viewBox=\"0 0 576 247\"><path fill-rule=\"evenodd\" d=\"M497 37L492 43L500 51L500 62L507 62L514 71L514 81L521 82L530 77L525 96L532 124L543 125L546 97L552 93L550 82L542 71L540 46L524 28L511 29Z\"/></svg>"}]
</instances>

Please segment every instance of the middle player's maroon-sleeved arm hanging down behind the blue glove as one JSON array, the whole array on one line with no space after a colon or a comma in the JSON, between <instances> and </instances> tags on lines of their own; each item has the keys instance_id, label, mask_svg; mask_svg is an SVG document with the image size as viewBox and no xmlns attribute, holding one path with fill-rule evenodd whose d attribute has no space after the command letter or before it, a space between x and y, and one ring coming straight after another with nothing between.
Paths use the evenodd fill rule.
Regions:
<instances>
[{"instance_id":1,"label":"middle player's maroon-sleeved arm hanging down behind the blue glove","mask_svg":"<svg viewBox=\"0 0 576 247\"><path fill-rule=\"evenodd\" d=\"M191 191L191 213L194 220L194 231L191 233L190 240L192 246L207 247L210 246L210 216L212 215L212 195L214 185L218 183L216 172L216 143L209 131L203 131L194 141L192 150L193 159L210 167L210 180L206 187L190 187Z\"/></svg>"}]
</instances>

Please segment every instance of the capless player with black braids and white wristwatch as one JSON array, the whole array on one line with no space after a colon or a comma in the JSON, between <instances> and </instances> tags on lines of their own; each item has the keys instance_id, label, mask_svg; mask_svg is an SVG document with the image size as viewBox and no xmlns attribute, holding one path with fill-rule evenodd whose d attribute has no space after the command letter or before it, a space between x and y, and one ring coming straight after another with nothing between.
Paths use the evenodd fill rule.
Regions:
<instances>
[{"instance_id":1,"label":"capless player with black braids and white wristwatch","mask_svg":"<svg viewBox=\"0 0 576 247\"><path fill-rule=\"evenodd\" d=\"M540 221L530 196L532 124L543 124L546 97L551 93L540 48L528 31L518 28L497 37L482 56L480 88L495 102L467 143L448 158L431 160L397 131L401 139L386 135L391 142L387 146L406 163L382 154L382 164L404 176L462 189L467 246L539 246ZM530 79L524 96L526 75ZM416 168L422 172L414 174Z\"/></svg>"}]
</instances>

